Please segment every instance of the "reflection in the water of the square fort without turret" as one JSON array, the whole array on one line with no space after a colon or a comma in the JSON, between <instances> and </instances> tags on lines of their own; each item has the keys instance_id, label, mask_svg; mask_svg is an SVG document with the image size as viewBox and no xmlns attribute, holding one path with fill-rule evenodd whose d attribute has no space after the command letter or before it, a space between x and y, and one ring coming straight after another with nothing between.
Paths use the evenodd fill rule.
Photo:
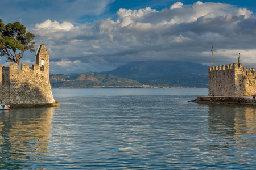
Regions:
<instances>
[{"instance_id":1,"label":"reflection in the water of the square fort without turret","mask_svg":"<svg viewBox=\"0 0 256 170\"><path fill-rule=\"evenodd\" d=\"M209 105L209 135L214 140L225 141L227 147L233 147L234 142L236 146L243 146L244 140L247 140L243 136L255 133L256 108L245 105Z\"/></svg>"}]
</instances>

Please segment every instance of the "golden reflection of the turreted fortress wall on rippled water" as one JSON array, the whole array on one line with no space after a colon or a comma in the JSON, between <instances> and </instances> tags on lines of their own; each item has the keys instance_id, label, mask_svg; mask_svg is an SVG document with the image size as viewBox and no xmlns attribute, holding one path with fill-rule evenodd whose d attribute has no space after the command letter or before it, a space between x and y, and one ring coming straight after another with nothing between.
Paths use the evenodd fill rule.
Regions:
<instances>
[{"instance_id":1,"label":"golden reflection of the turreted fortress wall on rippled water","mask_svg":"<svg viewBox=\"0 0 256 170\"><path fill-rule=\"evenodd\" d=\"M48 154L54 109L12 109L0 114L0 169L26 167L31 160L42 163L40 159Z\"/></svg>"}]
</instances>

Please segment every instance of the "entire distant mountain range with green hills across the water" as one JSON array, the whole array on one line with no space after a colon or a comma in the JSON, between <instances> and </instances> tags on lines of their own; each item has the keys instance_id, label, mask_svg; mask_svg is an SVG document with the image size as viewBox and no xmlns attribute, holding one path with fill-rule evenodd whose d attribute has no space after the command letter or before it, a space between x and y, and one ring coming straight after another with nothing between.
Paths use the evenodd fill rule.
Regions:
<instances>
[{"instance_id":1,"label":"entire distant mountain range with green hills across the water","mask_svg":"<svg viewBox=\"0 0 256 170\"><path fill-rule=\"evenodd\" d=\"M51 74L50 81L53 88L207 88L208 66L181 61L137 61L105 73Z\"/></svg>"}]
</instances>

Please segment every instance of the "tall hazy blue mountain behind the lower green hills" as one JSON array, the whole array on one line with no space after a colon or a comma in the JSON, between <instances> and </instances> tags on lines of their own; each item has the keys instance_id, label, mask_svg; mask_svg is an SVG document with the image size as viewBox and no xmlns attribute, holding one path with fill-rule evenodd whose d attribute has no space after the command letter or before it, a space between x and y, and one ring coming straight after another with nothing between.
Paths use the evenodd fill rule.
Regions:
<instances>
[{"instance_id":1,"label":"tall hazy blue mountain behind the lower green hills","mask_svg":"<svg viewBox=\"0 0 256 170\"><path fill-rule=\"evenodd\" d=\"M181 61L135 61L107 72L164 87L208 87L208 66Z\"/></svg>"}]
</instances>

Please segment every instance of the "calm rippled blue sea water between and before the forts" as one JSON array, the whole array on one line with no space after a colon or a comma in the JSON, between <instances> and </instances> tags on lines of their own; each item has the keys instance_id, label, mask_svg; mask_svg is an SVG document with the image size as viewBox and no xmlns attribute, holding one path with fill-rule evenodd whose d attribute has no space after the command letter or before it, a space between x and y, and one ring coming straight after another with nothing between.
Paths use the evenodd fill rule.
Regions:
<instances>
[{"instance_id":1,"label":"calm rippled blue sea water between and before the forts","mask_svg":"<svg viewBox=\"0 0 256 170\"><path fill-rule=\"evenodd\" d=\"M0 113L0 169L255 169L256 107L207 89L53 89L59 107Z\"/></svg>"}]
</instances>

